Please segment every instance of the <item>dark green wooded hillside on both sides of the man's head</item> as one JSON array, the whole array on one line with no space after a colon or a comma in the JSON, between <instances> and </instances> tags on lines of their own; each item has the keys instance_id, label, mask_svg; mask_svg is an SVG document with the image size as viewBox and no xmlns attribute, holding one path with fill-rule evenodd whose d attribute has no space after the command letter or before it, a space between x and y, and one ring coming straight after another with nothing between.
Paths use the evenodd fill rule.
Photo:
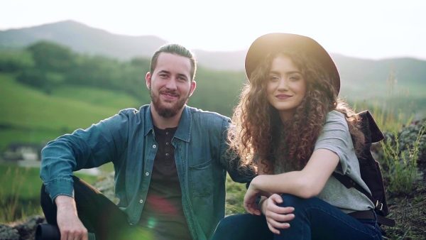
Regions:
<instances>
[{"instance_id":1,"label":"dark green wooded hillside on both sides of the man's head","mask_svg":"<svg viewBox=\"0 0 426 240\"><path fill-rule=\"evenodd\" d=\"M1 57L2 52L0 52ZM77 53L65 45L42 40L28 45L21 55L0 58L0 72L11 72L16 81L51 94L64 84L111 89L149 102L145 75L150 59L117 60L104 55ZM190 98L194 107L231 115L246 76L197 68L197 90Z\"/></svg>"}]
</instances>

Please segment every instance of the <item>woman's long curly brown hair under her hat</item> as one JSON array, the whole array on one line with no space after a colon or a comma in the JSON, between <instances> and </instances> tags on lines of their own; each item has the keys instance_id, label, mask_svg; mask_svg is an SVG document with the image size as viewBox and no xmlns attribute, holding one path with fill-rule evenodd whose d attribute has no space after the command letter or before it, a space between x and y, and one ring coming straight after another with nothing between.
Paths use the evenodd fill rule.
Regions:
<instances>
[{"instance_id":1,"label":"woman's long curly brown hair under her hat","mask_svg":"<svg viewBox=\"0 0 426 240\"><path fill-rule=\"evenodd\" d=\"M277 55L293 60L307 87L293 119L285 122L281 121L278 110L268 102L266 95L268 72ZM327 71L305 53L288 50L268 55L253 71L239 100L232 116L233 126L228 132L229 149L240 157L239 170L256 172L258 165L263 163L266 173L268 168L273 168L276 153L285 156L285 165L301 170L312 155L327 113L332 110L346 116L356 154L361 154L364 134L360 130L359 117L343 99L337 99Z\"/></svg>"}]
</instances>

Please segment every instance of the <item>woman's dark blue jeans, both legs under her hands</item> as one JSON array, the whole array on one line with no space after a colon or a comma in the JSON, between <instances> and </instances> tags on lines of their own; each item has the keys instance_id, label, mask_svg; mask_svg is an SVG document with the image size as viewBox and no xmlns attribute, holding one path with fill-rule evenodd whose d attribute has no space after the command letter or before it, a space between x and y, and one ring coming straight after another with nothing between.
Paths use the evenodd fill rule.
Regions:
<instances>
[{"instance_id":1,"label":"woman's dark blue jeans, both legs under her hands","mask_svg":"<svg viewBox=\"0 0 426 240\"><path fill-rule=\"evenodd\" d=\"M317 197L282 197L280 207L295 208L290 228L273 234L263 215L237 214L222 219L212 239L382 239L376 219L355 219Z\"/></svg>"}]
</instances>

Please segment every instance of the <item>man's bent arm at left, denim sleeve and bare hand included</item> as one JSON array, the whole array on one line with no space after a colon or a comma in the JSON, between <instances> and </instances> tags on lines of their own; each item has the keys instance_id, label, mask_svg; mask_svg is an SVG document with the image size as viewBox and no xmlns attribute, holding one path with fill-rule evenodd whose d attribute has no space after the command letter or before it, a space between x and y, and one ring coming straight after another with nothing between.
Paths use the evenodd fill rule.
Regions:
<instances>
[{"instance_id":1,"label":"man's bent arm at left, denim sleeve and bare hand included","mask_svg":"<svg viewBox=\"0 0 426 240\"><path fill-rule=\"evenodd\" d=\"M119 159L126 149L128 125L129 117L121 111L89 129L60 136L43 148L40 178L57 206L61 239L87 239L73 198L72 173Z\"/></svg>"}]
</instances>

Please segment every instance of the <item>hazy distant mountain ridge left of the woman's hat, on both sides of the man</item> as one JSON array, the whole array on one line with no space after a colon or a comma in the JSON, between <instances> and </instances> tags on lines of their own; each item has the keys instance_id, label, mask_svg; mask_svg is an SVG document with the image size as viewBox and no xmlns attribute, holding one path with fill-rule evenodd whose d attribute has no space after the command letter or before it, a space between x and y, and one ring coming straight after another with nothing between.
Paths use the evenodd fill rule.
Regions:
<instances>
[{"instance_id":1,"label":"hazy distant mountain ridge left of the woman's hat, on both sides of the man","mask_svg":"<svg viewBox=\"0 0 426 240\"><path fill-rule=\"evenodd\" d=\"M76 21L60 21L31 28L0 31L0 50L25 48L38 40L51 40L80 53L107 55L121 60L151 58L166 40L156 36L124 36L92 28ZM214 70L243 70L245 50L208 52L194 50L200 65Z\"/></svg>"}]
</instances>

